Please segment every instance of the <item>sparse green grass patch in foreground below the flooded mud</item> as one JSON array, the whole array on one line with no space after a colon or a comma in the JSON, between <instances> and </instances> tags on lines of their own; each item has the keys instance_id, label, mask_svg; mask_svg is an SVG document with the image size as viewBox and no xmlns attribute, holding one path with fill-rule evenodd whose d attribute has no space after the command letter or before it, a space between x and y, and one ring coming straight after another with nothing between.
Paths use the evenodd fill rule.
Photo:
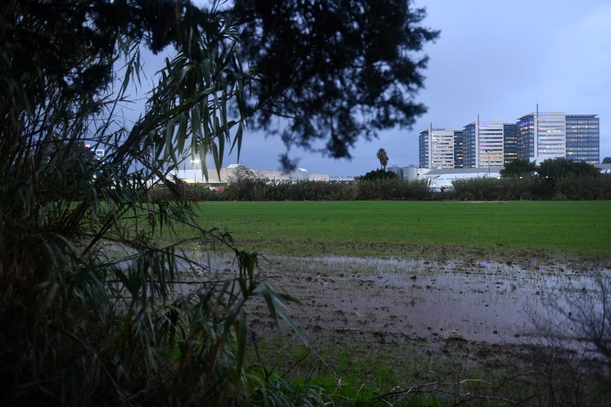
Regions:
<instances>
[{"instance_id":1,"label":"sparse green grass patch in foreground below the flooded mud","mask_svg":"<svg viewBox=\"0 0 611 407\"><path fill-rule=\"evenodd\" d=\"M269 364L276 364L277 373L291 380L295 386L307 383L323 388L331 401L330 405L336 406L387 406L389 403L378 396L398 387L406 389L436 382L440 385L424 386L422 393L415 389L403 402L390 405L439 406L458 403L458 395L437 392L436 389L440 388L456 393L480 394L491 392L491 387L495 386L502 387L503 394L525 390L513 380L508 383L503 381L515 373L511 363L518 360L524 362L524 358L528 358L527 353L521 357L518 353L512 353L511 347L502 345L489 347L482 343L403 341L396 335L387 335L387 338L387 342L378 343L364 339L358 333L343 334L334 341L311 344L312 348L320 347L318 355L314 355L301 345L286 340L286 337L260 337L258 355ZM476 362L480 358L476 355L481 349L498 352L499 355L491 356L489 364L482 360ZM512 360L505 363L503 358ZM459 385L465 379L469 383ZM478 380L485 380L487 385L483 387L486 388L477 383Z\"/></svg>"}]
</instances>

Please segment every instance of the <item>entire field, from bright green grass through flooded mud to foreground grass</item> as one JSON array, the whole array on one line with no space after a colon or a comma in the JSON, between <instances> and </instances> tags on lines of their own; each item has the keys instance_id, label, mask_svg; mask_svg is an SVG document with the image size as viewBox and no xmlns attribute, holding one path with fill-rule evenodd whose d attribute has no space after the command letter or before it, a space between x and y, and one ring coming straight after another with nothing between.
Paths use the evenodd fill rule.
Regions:
<instances>
[{"instance_id":1,"label":"entire field, from bright green grass through flooded mud to foreground grass","mask_svg":"<svg viewBox=\"0 0 611 407\"><path fill-rule=\"evenodd\" d=\"M572 361L561 348L538 346L539 336L520 344L473 339L486 330L515 339L503 323L570 295L568 281L580 284L579 298L585 295L584 281L609 268L609 201L221 201L197 211L202 226L225 224L238 247L279 254L269 256L263 272L301 301L293 318L309 347L289 330L271 328L254 308L257 348L249 357L292 384L323 387L329 405L584 405L582 397L609 405L608 386L591 380L608 376L589 359ZM422 268L395 259L411 256L426 260ZM482 265L494 256L502 261ZM377 259L385 257L392 259ZM514 258L522 261L507 261ZM569 270L560 264L566 258L600 267L582 273L590 267L574 262ZM522 268L525 259L536 262ZM540 261L547 272L539 271ZM450 267L456 264L462 266ZM439 339L457 328L467 341ZM556 333L540 333L547 334ZM397 389L414 394L376 398Z\"/></svg>"}]
</instances>

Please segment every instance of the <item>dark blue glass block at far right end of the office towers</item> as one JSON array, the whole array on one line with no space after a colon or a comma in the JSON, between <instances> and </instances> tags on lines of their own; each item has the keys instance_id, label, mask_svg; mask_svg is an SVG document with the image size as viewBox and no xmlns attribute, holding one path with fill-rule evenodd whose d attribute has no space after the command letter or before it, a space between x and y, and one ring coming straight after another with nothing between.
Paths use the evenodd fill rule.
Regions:
<instances>
[{"instance_id":1,"label":"dark blue glass block at far right end of the office towers","mask_svg":"<svg viewBox=\"0 0 611 407\"><path fill-rule=\"evenodd\" d=\"M600 162L598 115L566 115L566 159Z\"/></svg>"}]
</instances>

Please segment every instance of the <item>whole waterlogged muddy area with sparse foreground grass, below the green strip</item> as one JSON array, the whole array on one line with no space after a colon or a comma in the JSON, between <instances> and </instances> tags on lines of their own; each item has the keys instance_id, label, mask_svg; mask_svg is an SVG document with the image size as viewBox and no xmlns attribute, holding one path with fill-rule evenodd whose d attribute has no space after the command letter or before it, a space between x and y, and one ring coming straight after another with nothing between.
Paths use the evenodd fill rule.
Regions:
<instances>
[{"instance_id":1,"label":"whole waterlogged muddy area with sparse foreground grass, below the green strip","mask_svg":"<svg viewBox=\"0 0 611 407\"><path fill-rule=\"evenodd\" d=\"M207 264L194 270L202 280L235 273L230 258ZM261 265L263 281L299 300L285 310L308 346L254 301L253 357L291 376L356 380L355 391L366 384L390 405L401 405L406 389L450 397L444 402L502 394L507 405L582 405L608 375L566 320L575 307L601 303L597 281L611 275L608 264L269 256ZM491 381L464 387L482 375Z\"/></svg>"}]
</instances>

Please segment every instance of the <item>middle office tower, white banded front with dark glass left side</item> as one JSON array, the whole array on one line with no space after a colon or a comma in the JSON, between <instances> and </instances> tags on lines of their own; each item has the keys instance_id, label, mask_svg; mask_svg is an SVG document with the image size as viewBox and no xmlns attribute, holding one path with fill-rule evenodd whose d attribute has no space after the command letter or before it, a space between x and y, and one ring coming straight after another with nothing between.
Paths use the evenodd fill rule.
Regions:
<instances>
[{"instance_id":1,"label":"middle office tower, white banded front with dark glass left side","mask_svg":"<svg viewBox=\"0 0 611 407\"><path fill-rule=\"evenodd\" d=\"M474 121L464 126L464 168L503 167L504 121Z\"/></svg>"}]
</instances>

